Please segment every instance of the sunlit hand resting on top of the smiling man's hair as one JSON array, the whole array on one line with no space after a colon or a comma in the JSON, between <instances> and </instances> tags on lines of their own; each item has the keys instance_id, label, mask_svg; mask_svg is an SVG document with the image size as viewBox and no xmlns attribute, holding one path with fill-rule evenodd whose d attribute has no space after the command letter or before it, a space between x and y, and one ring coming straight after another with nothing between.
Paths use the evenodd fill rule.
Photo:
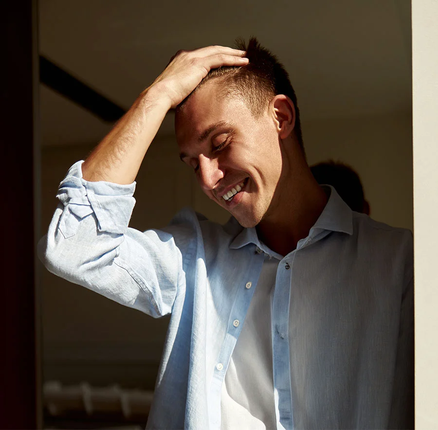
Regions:
<instances>
[{"instance_id":1,"label":"sunlit hand resting on top of the smiling man's hair","mask_svg":"<svg viewBox=\"0 0 438 430\"><path fill-rule=\"evenodd\" d=\"M169 106L176 107L198 86L210 70L221 66L248 64L248 58L245 58L244 54L244 51L225 46L178 51L149 88L159 86L160 93L168 97Z\"/></svg>"}]
</instances>

